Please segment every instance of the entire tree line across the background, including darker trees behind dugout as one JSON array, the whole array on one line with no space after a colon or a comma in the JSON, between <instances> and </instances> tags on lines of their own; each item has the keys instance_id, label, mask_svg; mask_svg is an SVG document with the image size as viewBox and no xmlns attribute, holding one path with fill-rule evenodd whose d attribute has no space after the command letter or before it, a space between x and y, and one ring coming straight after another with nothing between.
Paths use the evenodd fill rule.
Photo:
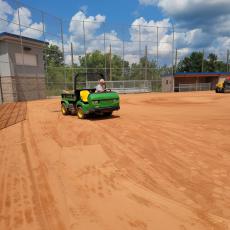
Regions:
<instances>
[{"instance_id":1,"label":"entire tree line across the background, including darker trees behind dugout","mask_svg":"<svg viewBox=\"0 0 230 230\"><path fill-rule=\"evenodd\" d=\"M141 57L138 63L130 64L120 56L102 53L99 50L79 56L79 63L64 64L64 56L58 46L50 44L44 49L44 62L48 84L53 88L72 87L72 76L75 72L97 72L103 74L106 80L160 80L162 75L175 72L224 72L226 63L218 60L218 56L210 53L204 58L202 52L193 52L184 57L178 65L172 67L158 66L155 60ZM88 80L97 80L88 78ZM85 82L82 75L79 81Z\"/></svg>"}]
</instances>

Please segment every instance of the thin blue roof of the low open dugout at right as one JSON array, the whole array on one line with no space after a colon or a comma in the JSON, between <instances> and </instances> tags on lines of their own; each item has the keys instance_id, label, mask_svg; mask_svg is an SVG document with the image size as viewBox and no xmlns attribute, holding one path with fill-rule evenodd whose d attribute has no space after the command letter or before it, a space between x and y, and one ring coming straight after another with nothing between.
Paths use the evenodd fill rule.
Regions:
<instances>
[{"instance_id":1,"label":"thin blue roof of the low open dugout at right","mask_svg":"<svg viewBox=\"0 0 230 230\"><path fill-rule=\"evenodd\" d=\"M172 77L172 75L165 75L162 77ZM230 76L230 72L192 72L192 73L185 73L185 72L179 72L175 73L173 77L227 77Z\"/></svg>"}]
</instances>

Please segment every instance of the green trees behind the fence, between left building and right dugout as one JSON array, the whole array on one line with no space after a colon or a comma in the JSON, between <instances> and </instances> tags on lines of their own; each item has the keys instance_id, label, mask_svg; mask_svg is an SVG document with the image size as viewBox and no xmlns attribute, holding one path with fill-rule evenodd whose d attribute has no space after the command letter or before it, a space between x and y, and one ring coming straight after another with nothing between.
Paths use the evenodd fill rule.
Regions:
<instances>
[{"instance_id":1,"label":"green trees behind the fence, between left building and right dugout","mask_svg":"<svg viewBox=\"0 0 230 230\"><path fill-rule=\"evenodd\" d=\"M106 80L156 80L162 74L170 74L168 66L157 67L155 60L141 57L138 63L130 64L116 54L102 53L95 50L85 56L79 56L79 63L64 64L62 51L56 45L48 45L44 49L45 69L50 82L62 83L66 79L72 81L74 72L97 72L105 76ZM84 76L81 81L85 81ZM90 79L89 79L90 80ZM94 80L94 79L92 79Z\"/></svg>"}]
</instances>

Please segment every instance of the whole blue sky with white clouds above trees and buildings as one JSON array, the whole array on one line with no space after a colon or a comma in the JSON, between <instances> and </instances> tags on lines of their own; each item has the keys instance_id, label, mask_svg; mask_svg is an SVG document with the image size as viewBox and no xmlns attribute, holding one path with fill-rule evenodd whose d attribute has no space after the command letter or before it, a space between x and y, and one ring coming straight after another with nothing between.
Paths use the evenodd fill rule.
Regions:
<instances>
[{"instance_id":1,"label":"whole blue sky with white clouds above trees and buildings","mask_svg":"<svg viewBox=\"0 0 230 230\"><path fill-rule=\"evenodd\" d=\"M60 17L64 22L67 62L70 60L70 43L74 46L76 59L84 55L83 20L86 21L86 52L104 52L104 48L108 52L112 45L113 53L124 54L129 62L137 62L144 55L146 46L149 59L156 59L158 52L161 64L170 64L175 49L178 49L179 59L192 51L205 50L206 55L214 52L222 60L226 59L227 49L230 49L229 0L24 0L23 3L25 5L16 5L15 0L0 0L0 31L19 33L19 11L24 36L45 38L61 48L60 21L51 15ZM37 9L47 13L44 21Z\"/></svg>"}]
</instances>

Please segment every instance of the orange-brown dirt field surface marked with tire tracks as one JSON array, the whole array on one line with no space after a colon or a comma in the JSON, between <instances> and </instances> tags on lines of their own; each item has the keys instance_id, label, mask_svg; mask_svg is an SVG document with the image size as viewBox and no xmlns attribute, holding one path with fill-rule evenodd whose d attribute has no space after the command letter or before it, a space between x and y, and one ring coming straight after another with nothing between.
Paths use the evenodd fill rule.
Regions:
<instances>
[{"instance_id":1,"label":"orange-brown dirt field surface marked with tire tracks","mask_svg":"<svg viewBox=\"0 0 230 230\"><path fill-rule=\"evenodd\" d=\"M85 120L23 106L0 130L1 230L230 229L230 94L121 95Z\"/></svg>"}]
</instances>

